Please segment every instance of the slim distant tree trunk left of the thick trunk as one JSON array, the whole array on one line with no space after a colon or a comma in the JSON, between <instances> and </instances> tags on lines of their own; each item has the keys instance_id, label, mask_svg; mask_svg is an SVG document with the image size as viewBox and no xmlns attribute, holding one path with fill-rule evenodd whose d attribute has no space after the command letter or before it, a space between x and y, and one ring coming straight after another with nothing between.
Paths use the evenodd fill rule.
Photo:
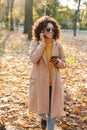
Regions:
<instances>
[{"instance_id":1,"label":"slim distant tree trunk left of the thick trunk","mask_svg":"<svg viewBox=\"0 0 87 130\"><path fill-rule=\"evenodd\" d=\"M13 22L13 8L14 8L14 0L10 0L11 12L10 12L10 30L14 30L14 22Z\"/></svg>"}]
</instances>

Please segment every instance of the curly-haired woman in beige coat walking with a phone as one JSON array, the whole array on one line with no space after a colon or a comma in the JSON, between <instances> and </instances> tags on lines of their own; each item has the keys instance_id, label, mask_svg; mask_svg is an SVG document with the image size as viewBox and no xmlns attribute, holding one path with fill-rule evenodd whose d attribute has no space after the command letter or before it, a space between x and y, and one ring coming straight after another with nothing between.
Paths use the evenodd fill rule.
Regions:
<instances>
[{"instance_id":1,"label":"curly-haired woman in beige coat walking with a phone","mask_svg":"<svg viewBox=\"0 0 87 130\"><path fill-rule=\"evenodd\" d=\"M63 116L63 85L59 69L66 67L61 44L60 26L44 16L32 28L29 56L33 63L29 84L29 110L41 115L41 127L54 130L55 118Z\"/></svg>"}]
</instances>

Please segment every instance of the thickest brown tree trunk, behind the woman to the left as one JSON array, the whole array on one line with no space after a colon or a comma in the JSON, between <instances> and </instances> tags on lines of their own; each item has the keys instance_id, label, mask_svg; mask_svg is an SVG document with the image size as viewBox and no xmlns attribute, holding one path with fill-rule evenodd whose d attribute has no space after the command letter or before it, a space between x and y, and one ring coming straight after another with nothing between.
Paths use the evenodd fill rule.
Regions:
<instances>
[{"instance_id":1,"label":"thickest brown tree trunk, behind the woman to the left","mask_svg":"<svg viewBox=\"0 0 87 130\"><path fill-rule=\"evenodd\" d=\"M31 39L32 23L33 23L33 0L25 2L25 22L24 33L28 34L28 39Z\"/></svg>"}]
</instances>

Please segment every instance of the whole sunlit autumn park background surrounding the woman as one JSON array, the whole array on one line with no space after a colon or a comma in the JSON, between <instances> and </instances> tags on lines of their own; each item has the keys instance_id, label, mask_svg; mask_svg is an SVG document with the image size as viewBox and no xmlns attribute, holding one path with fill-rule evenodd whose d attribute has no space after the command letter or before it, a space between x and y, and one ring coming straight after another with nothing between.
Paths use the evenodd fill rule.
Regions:
<instances>
[{"instance_id":1,"label":"whole sunlit autumn park background surrounding the woman","mask_svg":"<svg viewBox=\"0 0 87 130\"><path fill-rule=\"evenodd\" d=\"M0 0L0 129L40 130L40 117L28 112L28 51L32 25L49 15L61 25L67 67L61 70L66 116L56 130L87 129L87 1ZM69 6L69 4L71 6Z\"/></svg>"}]
</instances>

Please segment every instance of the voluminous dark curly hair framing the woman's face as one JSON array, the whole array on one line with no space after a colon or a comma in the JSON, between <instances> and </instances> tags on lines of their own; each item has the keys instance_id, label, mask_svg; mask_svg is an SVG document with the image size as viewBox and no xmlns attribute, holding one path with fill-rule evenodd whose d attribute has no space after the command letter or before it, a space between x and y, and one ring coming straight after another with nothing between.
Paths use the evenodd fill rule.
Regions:
<instances>
[{"instance_id":1,"label":"voluminous dark curly hair framing the woman's face","mask_svg":"<svg viewBox=\"0 0 87 130\"><path fill-rule=\"evenodd\" d=\"M32 38L39 41L40 33L47 27L48 23L52 23L55 28L53 39L59 39L60 25L54 18L50 16L41 17L34 23L34 25L32 26Z\"/></svg>"}]
</instances>

